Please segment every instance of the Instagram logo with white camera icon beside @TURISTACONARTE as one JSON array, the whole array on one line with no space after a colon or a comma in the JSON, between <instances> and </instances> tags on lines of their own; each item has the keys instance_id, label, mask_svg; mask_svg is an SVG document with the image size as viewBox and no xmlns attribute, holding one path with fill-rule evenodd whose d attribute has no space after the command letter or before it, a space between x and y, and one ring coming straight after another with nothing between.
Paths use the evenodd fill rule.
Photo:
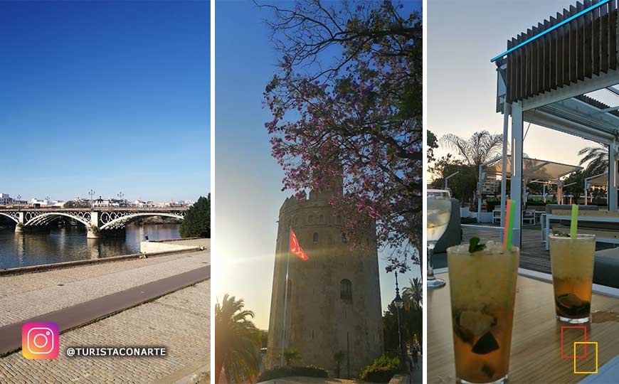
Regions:
<instances>
[{"instance_id":1,"label":"Instagram logo with white camera icon beside @TURISTACONARTE","mask_svg":"<svg viewBox=\"0 0 619 384\"><path fill-rule=\"evenodd\" d=\"M55 323L26 323L21 327L21 354L25 358L57 358L58 325Z\"/></svg>"}]
</instances>

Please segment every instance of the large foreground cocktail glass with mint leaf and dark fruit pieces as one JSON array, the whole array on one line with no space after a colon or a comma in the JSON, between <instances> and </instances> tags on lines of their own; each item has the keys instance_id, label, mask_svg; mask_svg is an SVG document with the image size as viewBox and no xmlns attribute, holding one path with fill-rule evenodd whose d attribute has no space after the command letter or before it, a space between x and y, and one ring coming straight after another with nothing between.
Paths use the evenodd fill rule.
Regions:
<instances>
[{"instance_id":1,"label":"large foreground cocktail glass with mint leaf and dark fruit pieces","mask_svg":"<svg viewBox=\"0 0 619 384\"><path fill-rule=\"evenodd\" d=\"M457 383L504 383L520 250L498 242L447 250Z\"/></svg>"}]
</instances>

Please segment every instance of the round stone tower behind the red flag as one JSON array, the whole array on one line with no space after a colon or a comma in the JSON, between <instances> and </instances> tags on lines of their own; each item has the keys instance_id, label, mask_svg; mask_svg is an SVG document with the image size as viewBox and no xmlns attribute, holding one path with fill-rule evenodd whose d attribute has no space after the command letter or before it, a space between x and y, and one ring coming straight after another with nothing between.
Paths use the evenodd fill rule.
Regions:
<instances>
[{"instance_id":1,"label":"round stone tower behind the red flag","mask_svg":"<svg viewBox=\"0 0 619 384\"><path fill-rule=\"evenodd\" d=\"M280 208L269 319L267 368L280 365L286 262L290 257L285 348L300 351L295 364L316 366L337 375L335 354L343 352L340 377L357 377L383 352L379 263L374 236L369 250L351 250L342 220L329 206L334 191L309 193L309 200L287 198ZM290 228L309 260L289 250Z\"/></svg>"}]
</instances>

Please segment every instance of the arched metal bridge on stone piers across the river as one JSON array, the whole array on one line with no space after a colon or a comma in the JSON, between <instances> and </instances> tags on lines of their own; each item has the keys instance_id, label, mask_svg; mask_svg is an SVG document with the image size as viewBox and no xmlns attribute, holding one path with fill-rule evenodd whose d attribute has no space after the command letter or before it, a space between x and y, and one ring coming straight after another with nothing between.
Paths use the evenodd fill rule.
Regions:
<instances>
[{"instance_id":1,"label":"arched metal bridge on stone piers across the river","mask_svg":"<svg viewBox=\"0 0 619 384\"><path fill-rule=\"evenodd\" d=\"M0 216L16 223L15 231L46 228L55 220L68 218L85 225L89 239L122 230L140 218L154 216L183 220L187 208L1 208Z\"/></svg>"}]
</instances>

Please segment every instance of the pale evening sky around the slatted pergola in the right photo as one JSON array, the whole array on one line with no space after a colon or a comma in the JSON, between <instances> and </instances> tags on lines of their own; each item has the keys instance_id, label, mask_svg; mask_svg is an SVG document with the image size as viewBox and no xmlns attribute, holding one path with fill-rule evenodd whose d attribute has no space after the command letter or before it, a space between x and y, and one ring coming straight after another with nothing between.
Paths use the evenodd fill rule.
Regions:
<instances>
[{"instance_id":1,"label":"pale evening sky around the slatted pergola in the right photo","mask_svg":"<svg viewBox=\"0 0 619 384\"><path fill-rule=\"evenodd\" d=\"M429 0L428 128L439 138L446 133L467 138L481 129L502 133L502 114L494 112L496 65L490 58L507 49L508 38L573 4L573 0ZM524 153L578 165L578 150L591 145L596 144L531 125ZM438 156L446 153L437 151Z\"/></svg>"}]
</instances>

